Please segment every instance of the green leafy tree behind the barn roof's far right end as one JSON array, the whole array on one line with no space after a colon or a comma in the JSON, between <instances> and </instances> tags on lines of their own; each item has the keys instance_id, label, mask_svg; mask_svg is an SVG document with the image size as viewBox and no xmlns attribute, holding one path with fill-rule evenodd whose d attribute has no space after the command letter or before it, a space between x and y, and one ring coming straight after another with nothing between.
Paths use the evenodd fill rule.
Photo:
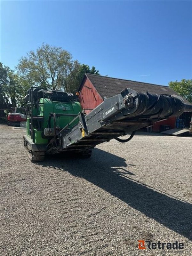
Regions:
<instances>
[{"instance_id":1,"label":"green leafy tree behind the barn roof's far right end","mask_svg":"<svg viewBox=\"0 0 192 256\"><path fill-rule=\"evenodd\" d=\"M180 82L171 81L169 87L192 103L192 79L182 79Z\"/></svg>"}]
</instances>

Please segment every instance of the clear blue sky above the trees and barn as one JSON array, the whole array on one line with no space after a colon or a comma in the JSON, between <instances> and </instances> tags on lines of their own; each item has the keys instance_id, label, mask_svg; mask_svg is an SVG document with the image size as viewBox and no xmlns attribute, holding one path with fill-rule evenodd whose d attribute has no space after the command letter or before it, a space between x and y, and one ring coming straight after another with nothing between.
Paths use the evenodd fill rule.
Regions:
<instances>
[{"instance_id":1,"label":"clear blue sky above the trees and barn","mask_svg":"<svg viewBox=\"0 0 192 256\"><path fill-rule=\"evenodd\" d=\"M192 1L2 1L1 62L42 43L101 75L168 85L192 78Z\"/></svg>"}]
</instances>

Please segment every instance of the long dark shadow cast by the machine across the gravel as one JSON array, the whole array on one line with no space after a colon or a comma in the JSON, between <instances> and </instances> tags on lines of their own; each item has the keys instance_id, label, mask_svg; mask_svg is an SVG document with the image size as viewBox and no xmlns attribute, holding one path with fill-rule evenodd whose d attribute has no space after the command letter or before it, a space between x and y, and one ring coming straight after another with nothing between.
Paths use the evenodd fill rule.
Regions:
<instances>
[{"instance_id":1,"label":"long dark shadow cast by the machine across the gravel","mask_svg":"<svg viewBox=\"0 0 192 256\"><path fill-rule=\"evenodd\" d=\"M147 217L192 240L192 204L124 177L125 169L121 167L129 166L124 158L95 148L90 159L65 159L59 156L56 159L49 157L39 164L84 178ZM134 175L132 172L127 174Z\"/></svg>"}]
</instances>

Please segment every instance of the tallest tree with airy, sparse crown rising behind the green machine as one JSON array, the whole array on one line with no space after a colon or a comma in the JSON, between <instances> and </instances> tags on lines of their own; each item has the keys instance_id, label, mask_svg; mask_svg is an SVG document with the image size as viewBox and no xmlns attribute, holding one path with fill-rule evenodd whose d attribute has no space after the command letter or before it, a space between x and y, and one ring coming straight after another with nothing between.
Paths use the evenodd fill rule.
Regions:
<instances>
[{"instance_id":1,"label":"tallest tree with airy, sparse crown rising behind the green machine","mask_svg":"<svg viewBox=\"0 0 192 256\"><path fill-rule=\"evenodd\" d=\"M61 47L42 44L19 60L17 69L31 85L56 90L63 86L72 69L71 54Z\"/></svg>"}]
</instances>

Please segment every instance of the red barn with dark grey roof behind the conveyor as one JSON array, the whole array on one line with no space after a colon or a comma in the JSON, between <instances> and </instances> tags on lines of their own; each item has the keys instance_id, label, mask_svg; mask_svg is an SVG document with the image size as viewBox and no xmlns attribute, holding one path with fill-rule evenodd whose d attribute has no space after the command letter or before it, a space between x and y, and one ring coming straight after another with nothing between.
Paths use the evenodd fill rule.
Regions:
<instances>
[{"instance_id":1,"label":"red barn with dark grey roof behind the conveyor","mask_svg":"<svg viewBox=\"0 0 192 256\"><path fill-rule=\"evenodd\" d=\"M136 82L131 80L124 80L118 78L112 78L108 76L99 76L85 73L83 81L79 87L79 100L81 106L84 108L85 113L89 113L92 109L97 107L100 103L103 102L104 97L112 97L125 88L131 88L137 92L149 92L149 93L158 93L158 94L175 94L180 96L178 93L174 92L170 87L156 84L148 84L142 82ZM184 100L185 103L191 104L187 100ZM191 114L189 117L185 117L188 120L187 125L189 126ZM169 126L170 129L176 127L176 117L170 117L167 120L156 122L153 125L153 131L159 132L160 126ZM162 128L163 126L161 126ZM183 127L185 128L185 127Z\"/></svg>"}]
</instances>

